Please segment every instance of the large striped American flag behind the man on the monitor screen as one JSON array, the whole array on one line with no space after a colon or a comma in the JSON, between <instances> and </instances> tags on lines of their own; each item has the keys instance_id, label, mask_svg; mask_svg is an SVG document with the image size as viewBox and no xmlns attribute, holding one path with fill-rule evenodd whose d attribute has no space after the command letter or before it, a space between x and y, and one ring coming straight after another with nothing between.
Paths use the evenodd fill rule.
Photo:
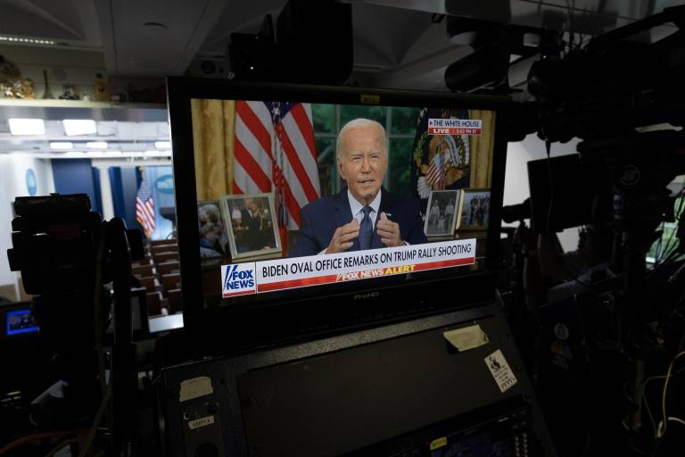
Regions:
<instances>
[{"instance_id":1,"label":"large striped American flag behind the man on the monitor screen","mask_svg":"<svg viewBox=\"0 0 685 457\"><path fill-rule=\"evenodd\" d=\"M273 190L278 224L300 227L300 208L318 199L317 150L309 104L235 103L234 194Z\"/></svg>"}]
</instances>

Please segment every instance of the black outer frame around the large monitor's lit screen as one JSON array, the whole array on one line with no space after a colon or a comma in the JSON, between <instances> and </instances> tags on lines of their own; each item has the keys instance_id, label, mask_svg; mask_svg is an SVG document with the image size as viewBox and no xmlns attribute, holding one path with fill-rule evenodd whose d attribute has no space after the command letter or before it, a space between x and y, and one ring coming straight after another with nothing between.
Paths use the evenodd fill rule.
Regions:
<instances>
[{"instance_id":1,"label":"black outer frame around the large monitor's lit screen","mask_svg":"<svg viewBox=\"0 0 685 457\"><path fill-rule=\"evenodd\" d=\"M227 337L229 345L259 345L266 340L280 340L301 335L301 333L318 333L334 328L365 326L369 322L388 321L397 318L388 312L386 304L392 297L417 294L417 284L423 287L435 287L445 280L454 281L450 287L468 287L463 300L451 303L449 306L433 306L417 299L416 312L400 310L401 316L436 312L438 308L463 308L475 303L487 303L495 298L496 270L499 264L499 228L501 225L501 206L504 190L504 171L506 166L508 121L508 104L510 99L505 96L475 96L451 94L442 92L420 92L408 90L388 90L359 87L327 87L301 86L280 83L247 83L223 79L192 79L183 77L169 77L167 79L167 99L169 106L169 129L173 150L173 170L175 179L176 213L178 250L180 258L182 294L184 303L184 322L186 330L197 338L209 341L218 335L226 336L230 331L239 334ZM330 295L327 286L318 286L318 294L307 299L286 299L274 303L260 303L252 310L230 310L230 307L205 309L202 297L201 262L198 249L199 230L197 227L197 190L195 185L193 119L191 113L192 99L214 100L278 100L297 101L321 104L369 104L382 106L416 106L436 108L466 108L483 109L496 112L496 128L493 138L492 175L491 175L491 214L487 230L487 246L484 269L463 272L458 277L414 281L415 287L406 287L400 283L390 286L376 287L371 280L354 281L349 291L336 292ZM369 103L364 103L369 101ZM184 223L189 220L193 223ZM404 290L404 289L407 290ZM394 290L393 290L394 289ZM397 289L402 289L398 293ZM415 290L416 289L416 290ZM476 290L475 290L476 289ZM433 295L433 294L431 294ZM361 298L359 298L361 296ZM332 325L311 324L310 328L301 328L301 320L306 320L306 314L316 312L316 304L326 300L326 308L331 314L339 312L337 306L350 307L350 312L359 316L356 323L335 324L335 316L331 316ZM359 303L356 303L359 302ZM306 304L305 304L306 303ZM312 304L314 303L314 304ZM276 305L276 306L273 306ZM268 308L266 310L265 308ZM412 306L409 306L412 308ZM276 312L276 310L278 310ZM427 310L427 311L426 311ZM335 312L334 312L335 311ZM256 325L253 320L264 321L268 312L268 319L286 319L276 325ZM326 320L326 319L324 319ZM342 319L346 320L346 319ZM243 325L231 325L235 321ZM330 323L330 322L329 322ZM263 322L262 322L263 324ZM290 327L284 329L283 327ZM299 329L292 328L300 327ZM308 327L304 325L304 327ZM275 331L276 330L276 331ZM254 336L255 332L265 332L268 335ZM226 338L217 337L219 340ZM212 345L216 344L214 341Z\"/></svg>"}]
</instances>

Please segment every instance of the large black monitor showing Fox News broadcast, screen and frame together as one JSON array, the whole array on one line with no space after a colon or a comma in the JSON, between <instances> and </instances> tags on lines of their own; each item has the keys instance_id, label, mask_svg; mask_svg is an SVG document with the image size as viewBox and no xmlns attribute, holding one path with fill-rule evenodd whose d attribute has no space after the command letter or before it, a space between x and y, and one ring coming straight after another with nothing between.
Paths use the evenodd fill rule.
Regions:
<instances>
[{"instance_id":1,"label":"large black monitor showing Fox News broadcast, screen and frame together","mask_svg":"<svg viewBox=\"0 0 685 457\"><path fill-rule=\"evenodd\" d=\"M494 298L508 98L186 78L167 89L184 320L201 339L260 342ZM381 184L365 222L351 205ZM353 216L352 247L326 253ZM379 240L383 220L397 225Z\"/></svg>"}]
</instances>

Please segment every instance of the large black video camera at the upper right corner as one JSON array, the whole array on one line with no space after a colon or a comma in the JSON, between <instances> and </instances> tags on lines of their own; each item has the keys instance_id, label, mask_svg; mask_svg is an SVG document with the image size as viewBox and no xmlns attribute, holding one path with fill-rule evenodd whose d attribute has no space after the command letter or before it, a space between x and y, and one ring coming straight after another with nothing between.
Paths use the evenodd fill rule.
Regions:
<instances>
[{"instance_id":1,"label":"large black video camera at the upper right corner","mask_svg":"<svg viewBox=\"0 0 685 457\"><path fill-rule=\"evenodd\" d=\"M645 42L673 22L673 33ZM685 7L636 21L590 40L582 49L541 50L528 91L538 107L538 134L545 141L607 138L643 126L685 122Z\"/></svg>"}]
</instances>

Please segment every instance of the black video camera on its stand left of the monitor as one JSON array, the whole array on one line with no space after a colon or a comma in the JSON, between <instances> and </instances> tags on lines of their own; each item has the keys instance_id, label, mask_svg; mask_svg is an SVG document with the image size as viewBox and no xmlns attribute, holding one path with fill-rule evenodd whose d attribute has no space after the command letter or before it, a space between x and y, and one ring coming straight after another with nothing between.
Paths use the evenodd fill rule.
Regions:
<instances>
[{"instance_id":1,"label":"black video camera on its stand left of the monitor","mask_svg":"<svg viewBox=\"0 0 685 457\"><path fill-rule=\"evenodd\" d=\"M93 423L92 443L111 407L108 428L113 448L120 449L135 424L127 424L137 388L130 259L143 257L140 232L120 219L104 221L90 211L85 194L18 197L14 211L10 268L21 271L26 292L37 295L37 324L54 349L51 369L59 379L31 403L30 419L38 428ZM112 310L114 346L105 353Z\"/></svg>"}]
</instances>

